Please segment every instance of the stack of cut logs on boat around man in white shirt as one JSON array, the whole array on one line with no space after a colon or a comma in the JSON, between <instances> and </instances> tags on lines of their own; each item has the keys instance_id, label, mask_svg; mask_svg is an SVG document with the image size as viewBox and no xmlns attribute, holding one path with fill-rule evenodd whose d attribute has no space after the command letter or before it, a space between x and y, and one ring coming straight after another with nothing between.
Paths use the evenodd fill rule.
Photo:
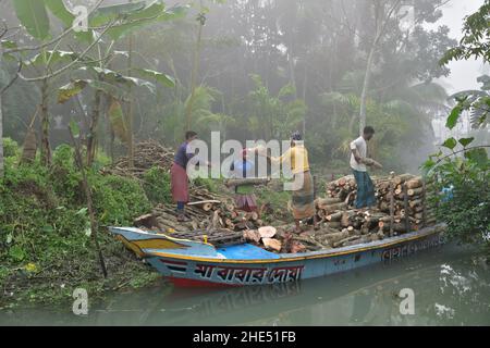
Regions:
<instances>
[{"instance_id":1,"label":"stack of cut logs on boat around man in white shirt","mask_svg":"<svg viewBox=\"0 0 490 348\"><path fill-rule=\"evenodd\" d=\"M428 206L428 185L412 174L373 178L377 207L353 209L356 182L342 177L327 185L327 198L317 199L317 214L326 227L356 231L359 235L397 235L436 224Z\"/></svg>"}]
</instances>

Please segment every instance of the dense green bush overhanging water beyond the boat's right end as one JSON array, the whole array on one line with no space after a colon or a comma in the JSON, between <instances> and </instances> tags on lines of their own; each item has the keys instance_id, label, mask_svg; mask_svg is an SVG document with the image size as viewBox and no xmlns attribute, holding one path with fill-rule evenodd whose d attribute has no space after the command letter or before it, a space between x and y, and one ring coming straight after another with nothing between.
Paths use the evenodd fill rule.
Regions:
<instances>
[{"instance_id":1,"label":"dense green bush overhanging water beyond the boat's right end","mask_svg":"<svg viewBox=\"0 0 490 348\"><path fill-rule=\"evenodd\" d=\"M454 127L461 105L448 117ZM432 198L438 219L448 224L450 237L465 244L485 245L490 251L490 160L488 146L471 146L475 138L449 138L422 169L434 182Z\"/></svg>"}]
</instances>

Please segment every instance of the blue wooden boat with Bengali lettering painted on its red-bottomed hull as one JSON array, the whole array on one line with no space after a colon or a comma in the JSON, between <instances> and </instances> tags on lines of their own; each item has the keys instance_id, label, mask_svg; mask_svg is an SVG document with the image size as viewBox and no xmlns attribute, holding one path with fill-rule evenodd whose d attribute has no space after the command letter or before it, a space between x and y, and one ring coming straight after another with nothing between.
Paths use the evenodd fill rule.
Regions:
<instances>
[{"instance_id":1,"label":"blue wooden boat with Bengali lettering painted on its red-bottomed hull","mask_svg":"<svg viewBox=\"0 0 490 348\"><path fill-rule=\"evenodd\" d=\"M306 253L273 253L250 244L215 247L133 227L110 227L124 245L176 286L265 285L321 277L388 262L444 241L436 225L364 245Z\"/></svg>"}]
</instances>

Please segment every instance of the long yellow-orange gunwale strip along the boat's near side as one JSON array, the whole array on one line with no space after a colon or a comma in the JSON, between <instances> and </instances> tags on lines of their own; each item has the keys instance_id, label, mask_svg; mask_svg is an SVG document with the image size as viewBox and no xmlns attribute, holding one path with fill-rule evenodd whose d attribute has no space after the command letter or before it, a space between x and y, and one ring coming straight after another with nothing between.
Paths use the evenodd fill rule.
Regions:
<instances>
[{"instance_id":1,"label":"long yellow-orange gunwale strip along the boat's near side","mask_svg":"<svg viewBox=\"0 0 490 348\"><path fill-rule=\"evenodd\" d=\"M295 262L295 261L306 261L306 260L315 260L315 259L327 259L333 257L340 257L345 254L354 254L358 252L365 252L370 250L383 249L387 247L391 247L394 245L399 245L406 241L413 241L417 239L421 239L438 233L442 233L444 231L444 224L438 224L430 227L425 227L417 232L412 232L402 236L387 238L384 240L375 241L370 244L363 244L360 246L350 246L340 249L329 249L329 250L319 250L313 251L308 253L303 253L302 256L295 253L281 253L278 259L225 259L225 258L206 258L198 256L187 256L180 253L167 253L159 251L148 251L146 253L146 258L159 257L167 259L175 259L175 260L187 260L187 261L198 261L198 262L210 262L210 263L281 263L281 262ZM294 256L294 257L292 257Z\"/></svg>"}]
</instances>

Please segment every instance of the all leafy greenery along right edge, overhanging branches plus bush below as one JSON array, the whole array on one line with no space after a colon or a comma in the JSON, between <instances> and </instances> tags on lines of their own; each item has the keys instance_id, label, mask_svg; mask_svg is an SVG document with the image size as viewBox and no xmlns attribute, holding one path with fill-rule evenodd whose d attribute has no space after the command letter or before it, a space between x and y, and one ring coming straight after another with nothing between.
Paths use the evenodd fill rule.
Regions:
<instances>
[{"instance_id":1,"label":"all leafy greenery along right edge, overhanging branches plus bush below","mask_svg":"<svg viewBox=\"0 0 490 348\"><path fill-rule=\"evenodd\" d=\"M486 0L479 11L466 18L460 46L448 51L441 63L468 59L482 59L489 63L489 23L490 1ZM469 138L446 139L424 169L438 190L444 192L433 203L438 207L439 219L448 223L449 235L465 244L482 245L490 253L490 76L481 76L478 80L482 85L480 90L453 96L456 105L446 122L446 127L453 129L467 112L478 132Z\"/></svg>"}]
</instances>

